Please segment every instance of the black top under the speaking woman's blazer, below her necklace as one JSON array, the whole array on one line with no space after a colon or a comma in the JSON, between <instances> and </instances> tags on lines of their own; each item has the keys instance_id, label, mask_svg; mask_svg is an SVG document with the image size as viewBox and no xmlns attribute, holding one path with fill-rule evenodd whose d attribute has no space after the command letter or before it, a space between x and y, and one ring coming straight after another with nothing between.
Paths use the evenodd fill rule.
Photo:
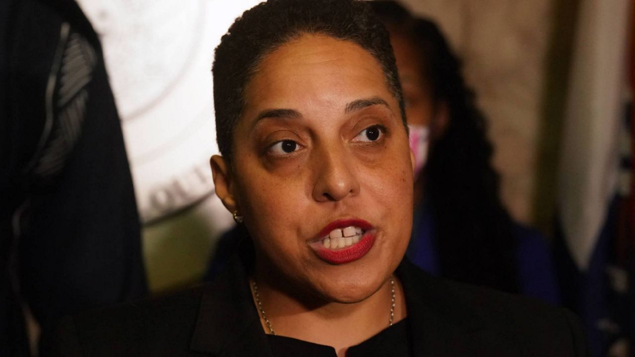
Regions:
<instances>
[{"instance_id":1,"label":"black top under the speaking woman's blazer, below her necklace","mask_svg":"<svg viewBox=\"0 0 635 357\"><path fill-rule=\"evenodd\" d=\"M335 349L331 346L278 335L267 335L267 339L275 357L337 357ZM349 347L346 351L346 357L407 357L411 355L408 318L385 328L361 344Z\"/></svg>"}]
</instances>

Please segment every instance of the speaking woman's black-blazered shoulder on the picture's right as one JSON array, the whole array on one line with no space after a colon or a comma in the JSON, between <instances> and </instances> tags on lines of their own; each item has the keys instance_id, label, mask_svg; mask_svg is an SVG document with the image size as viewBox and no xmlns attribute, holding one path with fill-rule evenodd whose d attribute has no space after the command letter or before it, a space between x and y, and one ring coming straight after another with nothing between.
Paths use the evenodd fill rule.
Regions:
<instances>
[{"instance_id":1,"label":"speaking woman's black-blazered shoulder on the picture's right","mask_svg":"<svg viewBox=\"0 0 635 357\"><path fill-rule=\"evenodd\" d=\"M409 263L400 266L408 314L420 321L415 333L451 344L455 353L482 355L586 356L584 333L569 311L537 299L430 276ZM439 342L431 341L431 346ZM428 347L426 347L428 348ZM487 351L487 352L485 352ZM503 353L502 351L507 351ZM518 351L518 353L511 353ZM481 355L476 353L476 355Z\"/></svg>"}]
</instances>

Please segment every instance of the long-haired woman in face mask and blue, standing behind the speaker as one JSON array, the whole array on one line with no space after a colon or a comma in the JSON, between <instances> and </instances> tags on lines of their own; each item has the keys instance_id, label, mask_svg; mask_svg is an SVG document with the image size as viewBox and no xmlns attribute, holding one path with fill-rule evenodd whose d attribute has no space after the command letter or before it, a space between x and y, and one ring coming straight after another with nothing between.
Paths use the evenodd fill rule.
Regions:
<instances>
[{"instance_id":1,"label":"long-haired woman in face mask and blue, standing behind the speaker","mask_svg":"<svg viewBox=\"0 0 635 357\"><path fill-rule=\"evenodd\" d=\"M486 120L460 62L434 23L395 1L370 1L391 34L403 85L415 169L415 218L408 257L429 273L559 302L549 246L511 220L498 197ZM429 130L428 130L429 128ZM425 192L425 194L424 194Z\"/></svg>"}]
</instances>

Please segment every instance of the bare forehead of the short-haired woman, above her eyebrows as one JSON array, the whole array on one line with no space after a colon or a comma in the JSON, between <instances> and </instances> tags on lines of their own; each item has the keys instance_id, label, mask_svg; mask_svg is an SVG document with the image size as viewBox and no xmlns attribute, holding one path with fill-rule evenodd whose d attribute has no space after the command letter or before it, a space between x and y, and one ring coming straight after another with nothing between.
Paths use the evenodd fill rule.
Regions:
<instances>
[{"instance_id":1,"label":"bare forehead of the short-haired woman, above her eyebrows","mask_svg":"<svg viewBox=\"0 0 635 357\"><path fill-rule=\"evenodd\" d=\"M351 41L305 34L267 55L246 90L246 112L392 98L379 62Z\"/></svg>"}]
</instances>

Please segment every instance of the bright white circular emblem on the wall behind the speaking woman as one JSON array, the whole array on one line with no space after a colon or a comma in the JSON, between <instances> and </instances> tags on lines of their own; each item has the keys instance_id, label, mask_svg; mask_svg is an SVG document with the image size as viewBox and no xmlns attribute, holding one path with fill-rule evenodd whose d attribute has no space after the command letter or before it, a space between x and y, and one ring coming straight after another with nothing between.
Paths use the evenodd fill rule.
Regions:
<instances>
[{"instance_id":1,"label":"bright white circular emblem on the wall behind the speaking woman","mask_svg":"<svg viewBox=\"0 0 635 357\"><path fill-rule=\"evenodd\" d=\"M259 1L78 2L102 41L144 223L213 196L213 50Z\"/></svg>"}]
</instances>

